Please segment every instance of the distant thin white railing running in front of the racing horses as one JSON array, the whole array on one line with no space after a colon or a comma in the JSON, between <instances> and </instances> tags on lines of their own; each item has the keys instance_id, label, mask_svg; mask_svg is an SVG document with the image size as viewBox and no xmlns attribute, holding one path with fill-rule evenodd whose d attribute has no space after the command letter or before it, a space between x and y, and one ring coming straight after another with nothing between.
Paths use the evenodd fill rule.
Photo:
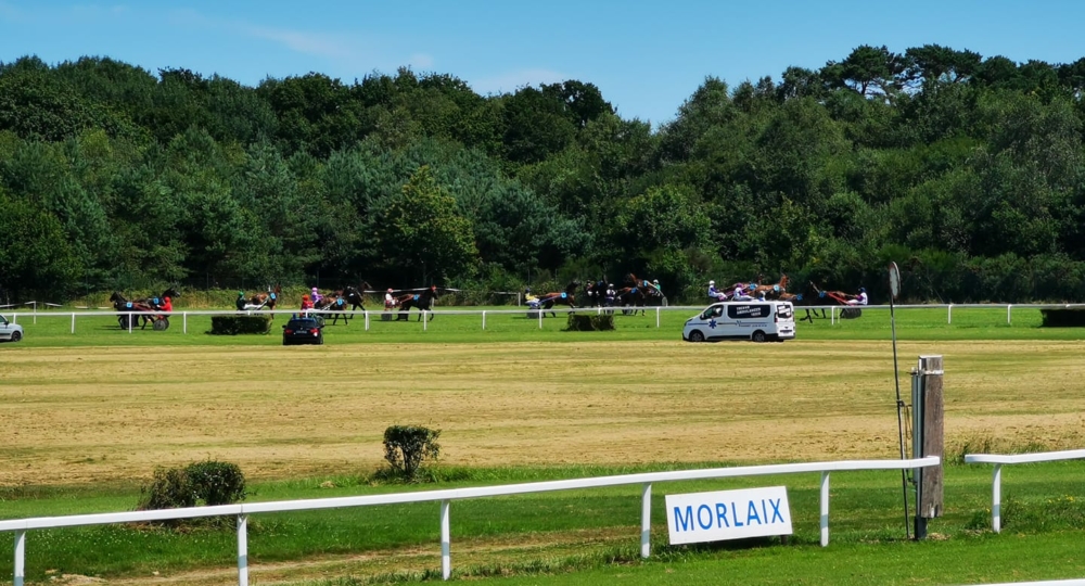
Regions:
<instances>
[{"instance_id":1,"label":"distant thin white railing running in front of the racing horses","mask_svg":"<svg viewBox=\"0 0 1085 586\"><path fill-rule=\"evenodd\" d=\"M663 311L692 311L692 313L697 313L697 311L703 310L705 307L706 307L706 305L673 305L673 306L668 306L668 307L644 307L643 309L648 314L651 314L651 313L655 314L655 327L659 328L660 327L660 316L661 316L661 314ZM843 306L843 305L809 305L809 306L807 306L807 305L800 305L800 306L795 307L795 311L799 313L799 311L804 310L804 309L808 309L810 311L813 311L813 310L818 310L818 311L825 310L825 311L829 313L830 323L834 324L834 323L837 323L838 321L841 320L841 318L839 317L840 310L841 309L847 309L847 308L858 308L858 309L864 309L864 310L867 310L867 309L870 309L870 310L883 310L883 309L884 310L889 310L890 307L888 305L857 305L857 306ZM1012 323L1012 321L1013 321L1013 309L1014 308L1018 308L1018 309L1085 309L1085 304L1081 304L1081 303L1060 303L1060 304L1039 304L1039 303L1035 303L1035 304L939 304L939 305L897 305L896 306L896 309L945 309L945 311L946 311L946 323L953 323L953 310L955 308L956 309L1000 309L1000 308L1005 308L1006 309L1006 323ZM487 315L489 315L489 316L494 316L494 315L524 315L525 311L526 311L528 315L532 316L532 319L536 319L536 318L538 319L538 327L539 327L539 329L541 329L542 328L542 323L544 323L544 319L546 318L547 315L550 315L550 314L558 314L558 315L561 315L561 314L573 314L573 313L580 313L580 314L583 314L583 313L603 314L603 313L607 313L607 311L618 314L618 313L621 313L623 310L626 310L626 309L629 310L629 311L633 311L634 308L633 307L577 307L577 308L574 308L574 309L570 309L567 307L565 307L565 308L554 307L553 309L547 309L546 311L535 310L535 309L528 309L528 308L523 308L523 307L520 308L520 309L454 309L454 308L449 308L449 309L439 309L437 311L424 313L426 315L426 319L422 320L422 329L423 330L427 330L429 329L427 320L429 320L430 314L443 315L443 316L446 316L446 315L451 315L451 316L457 316L457 315L459 315L459 316L481 316L482 317L482 329L485 330L486 329L486 316ZM639 313L640 309L641 308L637 308L637 311ZM126 315L127 316L135 316L135 317L148 316L148 315L153 315L153 316L169 316L171 318L180 317L181 318L181 327L183 328L184 333L188 333L188 331L189 331L189 316L235 316L235 315L239 315L239 314L248 314L248 315L260 315L260 314L268 315L268 314L275 314L275 315L286 315L286 316L289 316L289 315L293 315L293 314L297 314L297 313L299 313L298 309L277 309L275 311L267 311L267 310L238 311L235 309L214 309L214 310L204 310L204 311L174 311L173 314L162 314L162 313L151 313L151 311L37 311L37 310L35 310L35 311L13 311L10 315L13 316L12 317L12 321L14 321L14 322L17 322L20 316L22 316L24 320L27 317L30 317L34 320L34 323L38 322L38 318L39 317L48 317L48 318L66 318L66 317L71 317L71 319L72 319L72 333L75 333L75 324L76 324L76 318L77 317L103 317L103 316L104 317L110 317L110 316L119 317L119 316L126 316ZM369 327L370 327L371 316L380 316L381 314L386 314L386 313L390 313L390 311L384 311L384 310L374 310L374 311L369 311L369 310L367 310L367 311L334 311L334 310L323 310L323 311L320 311L320 310L309 310L308 313L309 314L324 314L324 315L329 315L329 316L330 315L335 315L335 314L346 315L346 316L350 316L352 319L356 318L356 317L363 318L365 321L366 321L366 330L368 331ZM393 310L393 311L391 311L391 314L394 315L394 316L398 316L399 311L398 310ZM409 316L413 317L413 316L418 316L418 314L412 311L412 313L409 314ZM131 320L131 319L128 320L128 331L129 332L131 332L132 329L133 329L132 328L132 321L133 320Z\"/></svg>"}]
</instances>

